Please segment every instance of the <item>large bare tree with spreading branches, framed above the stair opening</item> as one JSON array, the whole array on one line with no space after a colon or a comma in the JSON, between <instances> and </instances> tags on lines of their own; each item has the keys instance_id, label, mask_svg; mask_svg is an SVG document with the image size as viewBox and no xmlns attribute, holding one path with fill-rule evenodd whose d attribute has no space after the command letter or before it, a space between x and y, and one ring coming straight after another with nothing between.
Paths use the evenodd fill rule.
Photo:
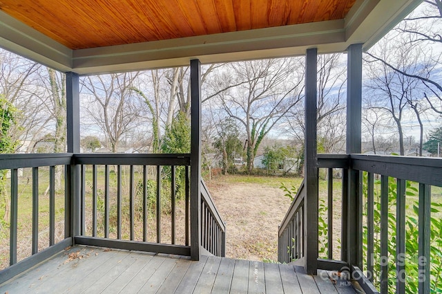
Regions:
<instances>
[{"instance_id":1,"label":"large bare tree with spreading branches, framed above the stair opening","mask_svg":"<svg viewBox=\"0 0 442 294\"><path fill-rule=\"evenodd\" d=\"M300 102L303 75L300 59L266 59L229 64L226 71L242 81L218 95L228 116L240 122L247 134L247 172L263 138ZM298 73L298 75L296 75Z\"/></svg>"}]
</instances>

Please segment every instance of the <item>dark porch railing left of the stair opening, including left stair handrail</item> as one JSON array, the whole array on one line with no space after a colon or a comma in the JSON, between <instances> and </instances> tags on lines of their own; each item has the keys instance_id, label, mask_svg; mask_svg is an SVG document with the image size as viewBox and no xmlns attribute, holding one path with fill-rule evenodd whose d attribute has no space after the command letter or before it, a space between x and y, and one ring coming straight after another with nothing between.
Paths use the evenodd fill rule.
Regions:
<instances>
[{"instance_id":1,"label":"dark porch railing left of the stair opening, including left stair handrail","mask_svg":"<svg viewBox=\"0 0 442 294\"><path fill-rule=\"evenodd\" d=\"M26 176L20 175L23 168ZM55 187L56 170L64 171L63 190ZM191 255L189 154L1 154L0 171L3 178L10 174L10 186L3 187L10 190L6 198L10 221L0 223L0 228L8 238L3 230L9 225L10 234L0 244L0 284L77 244ZM22 181L32 198L32 217L24 225L32 227L30 244L19 243ZM39 201L46 201L42 184L48 187L45 234L39 228L45 214ZM200 185L201 246L224 256L224 222L204 181ZM23 248L29 252L17 252Z\"/></svg>"}]
</instances>

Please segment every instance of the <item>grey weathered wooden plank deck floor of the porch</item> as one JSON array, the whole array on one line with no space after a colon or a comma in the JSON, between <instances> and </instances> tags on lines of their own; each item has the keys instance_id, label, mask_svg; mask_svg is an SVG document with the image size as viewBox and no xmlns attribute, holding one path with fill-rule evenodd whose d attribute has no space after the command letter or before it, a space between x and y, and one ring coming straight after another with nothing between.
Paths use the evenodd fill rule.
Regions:
<instances>
[{"instance_id":1,"label":"grey weathered wooden plank deck floor of the porch","mask_svg":"<svg viewBox=\"0 0 442 294\"><path fill-rule=\"evenodd\" d=\"M356 293L335 279L287 264L74 247L1 284L0 293Z\"/></svg>"}]
</instances>

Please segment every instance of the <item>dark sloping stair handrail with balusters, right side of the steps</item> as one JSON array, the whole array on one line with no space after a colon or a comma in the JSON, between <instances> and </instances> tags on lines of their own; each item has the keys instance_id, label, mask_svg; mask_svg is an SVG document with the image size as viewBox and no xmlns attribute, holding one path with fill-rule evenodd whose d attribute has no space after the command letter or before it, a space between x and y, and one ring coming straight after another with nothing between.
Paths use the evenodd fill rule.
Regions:
<instances>
[{"instance_id":1,"label":"dark sloping stair handrail with balusters, right side of the steps","mask_svg":"<svg viewBox=\"0 0 442 294\"><path fill-rule=\"evenodd\" d=\"M278 232L278 261L288 263L304 252L304 181L302 181Z\"/></svg>"}]
</instances>

